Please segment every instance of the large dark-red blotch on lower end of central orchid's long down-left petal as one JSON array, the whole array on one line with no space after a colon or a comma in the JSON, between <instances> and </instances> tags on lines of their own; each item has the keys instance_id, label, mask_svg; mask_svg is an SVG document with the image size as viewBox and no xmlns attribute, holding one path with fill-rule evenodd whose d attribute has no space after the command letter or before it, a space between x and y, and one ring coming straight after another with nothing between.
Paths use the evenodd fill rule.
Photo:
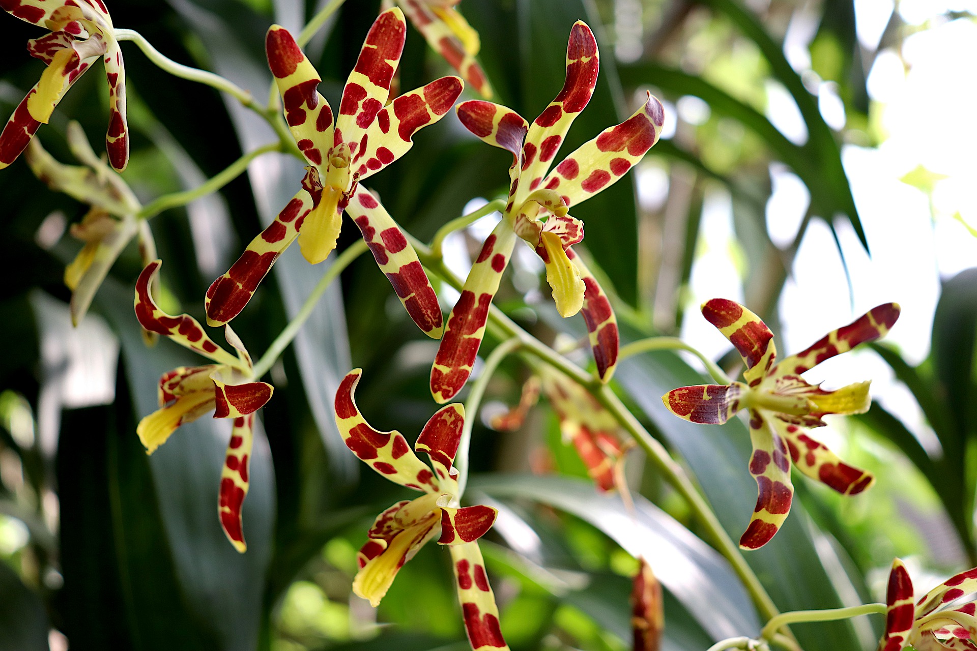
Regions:
<instances>
[{"instance_id":1,"label":"large dark-red blotch on lower end of central orchid's long down-left petal","mask_svg":"<svg viewBox=\"0 0 977 651\"><path fill-rule=\"evenodd\" d=\"M490 294L480 295L476 302L475 294L470 290L461 293L457 305L451 310L445 338L435 357L436 364L450 370L447 373L438 368L431 370L431 391L435 395L441 393L447 399L464 387L482 344L482 338L473 335L485 327L490 304Z\"/></svg>"}]
</instances>

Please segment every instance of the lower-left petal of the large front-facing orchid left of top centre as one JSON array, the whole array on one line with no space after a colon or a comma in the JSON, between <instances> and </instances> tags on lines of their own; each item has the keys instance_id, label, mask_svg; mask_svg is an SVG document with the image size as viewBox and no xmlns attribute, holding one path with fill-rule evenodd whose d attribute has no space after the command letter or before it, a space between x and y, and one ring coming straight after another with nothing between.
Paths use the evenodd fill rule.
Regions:
<instances>
[{"instance_id":1,"label":"lower-left petal of the large front-facing orchid left of top centre","mask_svg":"<svg viewBox=\"0 0 977 651\"><path fill-rule=\"evenodd\" d=\"M319 173L307 168L300 189L278 213L275 221L247 245L237 262L211 283L204 299L207 325L224 325L244 309L272 264L298 236L310 211L319 205Z\"/></svg>"}]
</instances>

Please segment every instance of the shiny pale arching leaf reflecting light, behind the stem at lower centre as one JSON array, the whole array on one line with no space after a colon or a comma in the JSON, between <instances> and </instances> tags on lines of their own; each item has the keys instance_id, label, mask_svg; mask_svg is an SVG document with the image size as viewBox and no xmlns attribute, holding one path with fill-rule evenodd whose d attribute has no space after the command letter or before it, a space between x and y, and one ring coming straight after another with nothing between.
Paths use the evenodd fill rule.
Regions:
<instances>
[{"instance_id":1,"label":"shiny pale arching leaf reflecting light, behind the stem at lower centre","mask_svg":"<svg viewBox=\"0 0 977 651\"><path fill-rule=\"evenodd\" d=\"M630 511L619 496L598 493L588 480L557 475L480 475L470 488L529 498L590 522L631 555L647 558L661 585L716 640L759 631L756 612L726 560L640 495Z\"/></svg>"}]
</instances>

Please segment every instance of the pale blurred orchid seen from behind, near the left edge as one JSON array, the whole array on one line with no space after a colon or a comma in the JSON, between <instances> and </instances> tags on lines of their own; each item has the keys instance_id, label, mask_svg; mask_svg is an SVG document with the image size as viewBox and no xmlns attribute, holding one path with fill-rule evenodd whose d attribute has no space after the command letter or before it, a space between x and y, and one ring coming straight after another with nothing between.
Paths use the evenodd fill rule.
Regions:
<instances>
[{"instance_id":1,"label":"pale blurred orchid seen from behind, near the left edge","mask_svg":"<svg viewBox=\"0 0 977 651\"><path fill-rule=\"evenodd\" d=\"M48 187L91 206L80 223L71 224L71 235L85 246L64 269L64 284L71 290L71 321L77 325L92 305L108 269L133 237L139 236L140 249L149 254L149 260L156 256L149 224L136 218L142 208L139 200L92 151L77 122L68 124L67 142L84 166L58 162L36 140L28 144L26 159L34 176ZM149 260L144 259L144 264Z\"/></svg>"}]
</instances>

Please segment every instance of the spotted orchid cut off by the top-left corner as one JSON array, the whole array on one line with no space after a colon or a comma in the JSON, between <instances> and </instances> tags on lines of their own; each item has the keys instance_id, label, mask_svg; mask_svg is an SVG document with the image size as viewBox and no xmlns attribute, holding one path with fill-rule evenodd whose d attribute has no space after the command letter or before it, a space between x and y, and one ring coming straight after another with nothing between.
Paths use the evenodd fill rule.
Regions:
<instances>
[{"instance_id":1,"label":"spotted orchid cut off by the top-left corner","mask_svg":"<svg viewBox=\"0 0 977 651\"><path fill-rule=\"evenodd\" d=\"M102 0L0 0L0 8L51 33L27 41L31 57L47 64L0 134L0 169L17 160L58 102L100 57L108 79L106 151L113 169L129 162L125 110L125 67L108 10Z\"/></svg>"}]
</instances>

